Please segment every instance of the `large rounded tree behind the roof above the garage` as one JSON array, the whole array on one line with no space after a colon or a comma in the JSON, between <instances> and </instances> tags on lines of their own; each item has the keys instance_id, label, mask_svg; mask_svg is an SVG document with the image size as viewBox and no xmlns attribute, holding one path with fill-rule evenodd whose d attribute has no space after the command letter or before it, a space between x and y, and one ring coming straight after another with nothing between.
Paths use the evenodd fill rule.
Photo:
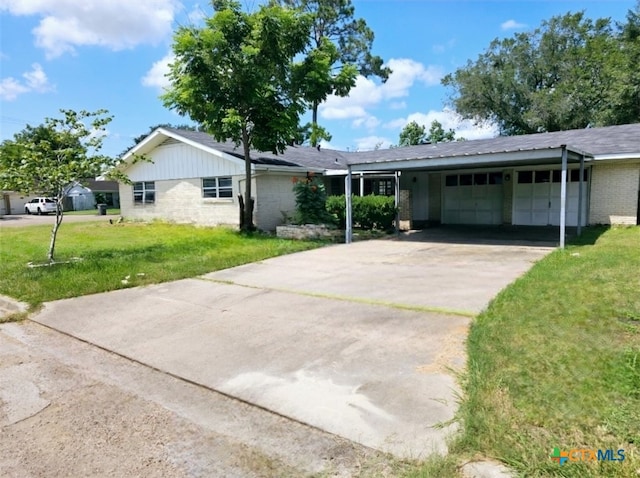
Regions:
<instances>
[{"instance_id":1,"label":"large rounded tree behind the roof above the garage","mask_svg":"<svg viewBox=\"0 0 640 478\"><path fill-rule=\"evenodd\" d=\"M458 113L493 121L502 134L610 124L621 56L610 19L568 13L494 40L443 84L454 88Z\"/></svg>"}]
</instances>

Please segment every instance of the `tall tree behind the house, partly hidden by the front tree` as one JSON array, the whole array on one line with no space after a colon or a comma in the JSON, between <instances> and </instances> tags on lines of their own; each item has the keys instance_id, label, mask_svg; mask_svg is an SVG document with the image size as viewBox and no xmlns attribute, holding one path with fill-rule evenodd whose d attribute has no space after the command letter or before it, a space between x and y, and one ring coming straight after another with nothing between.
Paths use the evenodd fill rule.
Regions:
<instances>
[{"instance_id":1,"label":"tall tree behind the house, partly hidden by the front tree","mask_svg":"<svg viewBox=\"0 0 640 478\"><path fill-rule=\"evenodd\" d=\"M383 60L371 53L373 31L362 18L355 18L351 0L272 0L272 3L299 9L312 16L310 43L304 61L297 69L298 81L311 108L307 125L311 145L330 140L318 125L318 106L327 96L347 96L356 77L378 76L386 81L391 73Z\"/></svg>"}]
</instances>

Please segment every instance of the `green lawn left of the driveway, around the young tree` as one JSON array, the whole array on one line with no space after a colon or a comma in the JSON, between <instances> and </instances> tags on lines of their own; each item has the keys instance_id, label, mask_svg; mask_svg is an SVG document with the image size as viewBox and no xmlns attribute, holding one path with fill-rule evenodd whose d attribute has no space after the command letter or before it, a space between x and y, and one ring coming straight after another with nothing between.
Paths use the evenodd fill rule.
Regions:
<instances>
[{"instance_id":1,"label":"green lawn left of the driveway, around the young tree","mask_svg":"<svg viewBox=\"0 0 640 478\"><path fill-rule=\"evenodd\" d=\"M159 222L63 223L56 260L82 261L27 267L30 261L45 262L50 231L50 226L0 230L0 294L37 307L56 299L194 277L320 245Z\"/></svg>"}]
</instances>

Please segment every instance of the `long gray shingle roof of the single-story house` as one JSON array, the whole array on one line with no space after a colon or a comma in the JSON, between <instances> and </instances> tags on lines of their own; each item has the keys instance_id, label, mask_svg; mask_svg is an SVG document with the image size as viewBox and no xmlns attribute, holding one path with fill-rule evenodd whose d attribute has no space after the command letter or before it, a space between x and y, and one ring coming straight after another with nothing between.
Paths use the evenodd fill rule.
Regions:
<instances>
[{"instance_id":1,"label":"long gray shingle roof of the single-story house","mask_svg":"<svg viewBox=\"0 0 640 478\"><path fill-rule=\"evenodd\" d=\"M220 143L213 136L198 131L172 128L167 130L238 158L242 149L231 142ZM254 164L299 166L318 169L346 169L347 164L402 161L407 159L448 158L481 154L532 151L566 145L592 155L638 153L640 156L640 123L603 128L586 128L522 136L499 136L491 139L407 146L377 151L345 152L291 146L283 154L251 151Z\"/></svg>"}]
</instances>

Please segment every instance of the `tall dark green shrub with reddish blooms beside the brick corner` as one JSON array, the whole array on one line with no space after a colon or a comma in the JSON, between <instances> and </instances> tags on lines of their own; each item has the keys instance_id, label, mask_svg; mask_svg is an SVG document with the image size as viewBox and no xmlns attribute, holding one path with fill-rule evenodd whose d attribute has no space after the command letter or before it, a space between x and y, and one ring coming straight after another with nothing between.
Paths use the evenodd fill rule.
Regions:
<instances>
[{"instance_id":1,"label":"tall dark green shrub with reddish blooms beside the brick corner","mask_svg":"<svg viewBox=\"0 0 640 478\"><path fill-rule=\"evenodd\" d=\"M293 178L293 192L296 224L334 224L334 217L327 211L327 193L322 180L313 173L307 173L304 179Z\"/></svg>"}]
</instances>

